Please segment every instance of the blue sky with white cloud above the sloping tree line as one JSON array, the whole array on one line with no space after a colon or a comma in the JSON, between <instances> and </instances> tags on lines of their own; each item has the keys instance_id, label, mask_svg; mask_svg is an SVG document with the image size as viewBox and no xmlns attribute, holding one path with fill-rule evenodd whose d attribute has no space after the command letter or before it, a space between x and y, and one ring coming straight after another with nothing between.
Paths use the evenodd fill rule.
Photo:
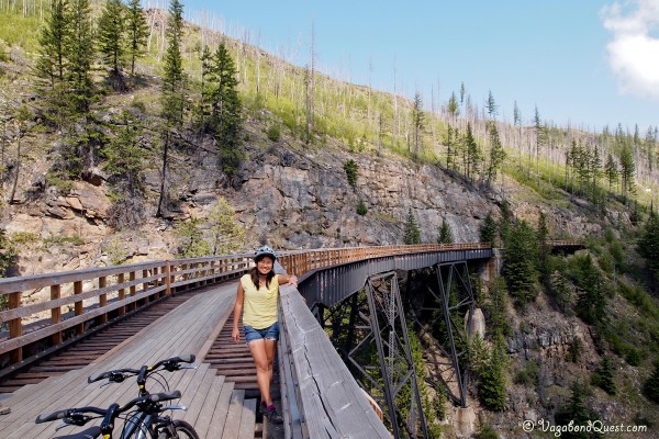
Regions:
<instances>
[{"instance_id":1,"label":"blue sky with white cloud above the sloping tree line","mask_svg":"<svg viewBox=\"0 0 659 439\"><path fill-rule=\"evenodd\" d=\"M148 5L148 0L143 0ZM163 0L160 0L163 1ZM463 82L499 119L514 102L560 126L659 125L659 0L182 0L230 36L355 83L445 103Z\"/></svg>"}]
</instances>

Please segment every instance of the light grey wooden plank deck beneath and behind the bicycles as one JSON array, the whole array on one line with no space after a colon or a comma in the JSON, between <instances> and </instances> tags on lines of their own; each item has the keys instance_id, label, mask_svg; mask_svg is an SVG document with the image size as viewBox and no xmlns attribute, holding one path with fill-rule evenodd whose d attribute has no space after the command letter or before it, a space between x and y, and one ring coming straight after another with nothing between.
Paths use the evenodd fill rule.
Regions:
<instances>
[{"instance_id":1,"label":"light grey wooden plank deck beneath and behind the bicycles","mask_svg":"<svg viewBox=\"0 0 659 439\"><path fill-rule=\"evenodd\" d=\"M201 438L254 438L256 399L246 399L245 390L234 389L233 382L202 362L232 312L235 289L231 282L198 294L89 365L14 392L1 402L11 414L0 417L0 436L52 438L79 431L80 427L66 427L56 432L59 423L36 425L34 419L41 413L85 405L107 407L136 396L134 380L100 389L100 383L87 383L91 374L138 369L168 357L194 353L198 369L164 372L170 390L182 393L181 399L174 403L189 407L186 413L174 412L174 416L192 424ZM157 383L150 383L148 389L158 392Z\"/></svg>"}]
</instances>

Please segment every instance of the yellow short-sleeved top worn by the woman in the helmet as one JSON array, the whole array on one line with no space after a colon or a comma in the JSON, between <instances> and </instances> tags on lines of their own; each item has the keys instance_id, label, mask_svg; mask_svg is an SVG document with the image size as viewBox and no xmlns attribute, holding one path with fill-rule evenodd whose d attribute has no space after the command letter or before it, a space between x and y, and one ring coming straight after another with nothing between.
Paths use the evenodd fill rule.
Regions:
<instances>
[{"instance_id":1,"label":"yellow short-sleeved top worn by the woman in the helmet","mask_svg":"<svg viewBox=\"0 0 659 439\"><path fill-rule=\"evenodd\" d=\"M257 289L252 282L252 277L245 274L241 278L241 284L245 292L243 302L243 325L255 329L265 329L277 322L277 305L279 303L279 277L270 281L270 288L266 285Z\"/></svg>"}]
</instances>

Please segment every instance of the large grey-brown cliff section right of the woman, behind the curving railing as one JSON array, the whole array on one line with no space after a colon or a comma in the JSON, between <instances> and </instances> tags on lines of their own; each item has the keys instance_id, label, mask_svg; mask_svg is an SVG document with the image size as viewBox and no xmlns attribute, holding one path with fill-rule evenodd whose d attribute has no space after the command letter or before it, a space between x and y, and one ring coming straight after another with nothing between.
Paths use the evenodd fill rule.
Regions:
<instances>
[{"instance_id":1,"label":"large grey-brown cliff section right of the woman, behind the curving railing","mask_svg":"<svg viewBox=\"0 0 659 439\"><path fill-rule=\"evenodd\" d=\"M343 164L358 165L357 184L348 183ZM255 154L243 169L232 204L247 230L291 248L402 244L411 209L421 239L436 241L445 218L456 241L478 240L491 202L470 192L432 166L401 159L314 150ZM368 213L357 214L359 200Z\"/></svg>"}]
</instances>

